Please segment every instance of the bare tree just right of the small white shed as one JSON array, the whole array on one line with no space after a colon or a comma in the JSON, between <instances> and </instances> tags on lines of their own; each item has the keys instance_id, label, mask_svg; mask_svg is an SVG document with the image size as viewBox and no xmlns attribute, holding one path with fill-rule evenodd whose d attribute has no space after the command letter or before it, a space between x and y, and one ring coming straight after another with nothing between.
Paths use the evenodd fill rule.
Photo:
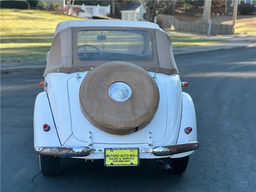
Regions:
<instances>
[{"instance_id":1,"label":"bare tree just right of the small white shed","mask_svg":"<svg viewBox=\"0 0 256 192\"><path fill-rule=\"evenodd\" d=\"M154 17L166 10L168 13L174 14L176 0L139 0L146 9L146 20L154 22Z\"/></svg>"}]
</instances>

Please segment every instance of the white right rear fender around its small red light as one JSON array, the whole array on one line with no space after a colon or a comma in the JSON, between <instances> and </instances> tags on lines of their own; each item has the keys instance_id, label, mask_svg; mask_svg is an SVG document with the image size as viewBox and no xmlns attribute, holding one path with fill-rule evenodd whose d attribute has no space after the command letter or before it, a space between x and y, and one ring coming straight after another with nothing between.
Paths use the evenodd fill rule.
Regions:
<instances>
[{"instance_id":1,"label":"white right rear fender around its small red light","mask_svg":"<svg viewBox=\"0 0 256 192\"><path fill-rule=\"evenodd\" d=\"M185 133L186 127L192 127L190 134ZM197 141L196 112L194 103L189 94L182 92L182 117L177 144ZM194 151L173 155L172 158L180 158L192 154Z\"/></svg>"}]
</instances>

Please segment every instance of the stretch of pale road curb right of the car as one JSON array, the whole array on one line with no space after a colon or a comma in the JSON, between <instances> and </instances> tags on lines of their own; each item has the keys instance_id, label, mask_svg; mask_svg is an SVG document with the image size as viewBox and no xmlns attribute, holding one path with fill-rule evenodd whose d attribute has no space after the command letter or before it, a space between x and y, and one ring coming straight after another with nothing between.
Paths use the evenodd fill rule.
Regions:
<instances>
[{"instance_id":1,"label":"stretch of pale road curb right of the car","mask_svg":"<svg viewBox=\"0 0 256 192\"><path fill-rule=\"evenodd\" d=\"M237 48L251 48L251 47L256 47L256 43L248 44L248 45L227 46L227 47L222 47L222 48L200 49L200 50L193 50L193 51L180 51L180 52L174 52L173 54L174 54L174 56L183 56L183 55L190 55L190 54L231 50L231 49L237 49Z\"/></svg>"}]
</instances>

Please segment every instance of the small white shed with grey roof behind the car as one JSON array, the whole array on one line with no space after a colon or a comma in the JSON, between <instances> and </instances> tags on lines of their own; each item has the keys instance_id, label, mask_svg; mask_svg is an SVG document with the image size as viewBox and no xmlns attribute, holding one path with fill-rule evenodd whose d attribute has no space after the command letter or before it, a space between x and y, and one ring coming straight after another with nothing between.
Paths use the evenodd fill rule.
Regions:
<instances>
[{"instance_id":1,"label":"small white shed with grey roof behind the car","mask_svg":"<svg viewBox=\"0 0 256 192\"><path fill-rule=\"evenodd\" d=\"M146 10L140 2L131 2L120 13L122 20L146 21Z\"/></svg>"}]
</instances>

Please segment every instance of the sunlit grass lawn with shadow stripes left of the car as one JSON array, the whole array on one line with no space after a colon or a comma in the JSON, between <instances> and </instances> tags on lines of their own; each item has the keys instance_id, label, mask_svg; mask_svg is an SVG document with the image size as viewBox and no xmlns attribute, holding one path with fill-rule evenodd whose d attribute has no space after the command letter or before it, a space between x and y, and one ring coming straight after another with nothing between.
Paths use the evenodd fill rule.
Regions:
<instances>
[{"instance_id":1,"label":"sunlit grass lawn with shadow stripes left of the car","mask_svg":"<svg viewBox=\"0 0 256 192\"><path fill-rule=\"evenodd\" d=\"M1 62L43 61L59 22L79 18L40 10L1 9Z\"/></svg>"}]
</instances>

